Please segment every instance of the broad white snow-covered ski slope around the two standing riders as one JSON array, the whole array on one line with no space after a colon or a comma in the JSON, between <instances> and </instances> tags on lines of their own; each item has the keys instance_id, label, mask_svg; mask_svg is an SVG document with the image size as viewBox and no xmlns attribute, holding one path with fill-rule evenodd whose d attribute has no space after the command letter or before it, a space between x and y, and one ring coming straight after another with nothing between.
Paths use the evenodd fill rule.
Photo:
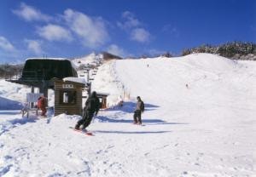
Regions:
<instances>
[{"instance_id":1,"label":"broad white snow-covered ski slope around the two standing riders","mask_svg":"<svg viewBox=\"0 0 256 177\"><path fill-rule=\"evenodd\" d=\"M93 137L68 128L78 116L0 112L0 176L254 177L255 71L212 54L107 62L93 88L125 105L100 111ZM145 126L131 124L137 95Z\"/></svg>"}]
</instances>

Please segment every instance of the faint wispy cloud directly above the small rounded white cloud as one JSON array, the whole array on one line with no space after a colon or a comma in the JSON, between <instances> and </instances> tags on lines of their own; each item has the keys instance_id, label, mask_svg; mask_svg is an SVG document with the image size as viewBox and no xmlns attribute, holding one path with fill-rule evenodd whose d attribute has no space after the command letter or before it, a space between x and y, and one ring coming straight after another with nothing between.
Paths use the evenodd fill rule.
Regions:
<instances>
[{"instance_id":1,"label":"faint wispy cloud directly above the small rounded white cloud","mask_svg":"<svg viewBox=\"0 0 256 177\"><path fill-rule=\"evenodd\" d=\"M135 18L135 15L132 14L130 11L125 11L122 14L122 18L124 19L123 22L118 22L117 25L122 29L131 29L132 27L141 26L142 23Z\"/></svg>"}]
</instances>

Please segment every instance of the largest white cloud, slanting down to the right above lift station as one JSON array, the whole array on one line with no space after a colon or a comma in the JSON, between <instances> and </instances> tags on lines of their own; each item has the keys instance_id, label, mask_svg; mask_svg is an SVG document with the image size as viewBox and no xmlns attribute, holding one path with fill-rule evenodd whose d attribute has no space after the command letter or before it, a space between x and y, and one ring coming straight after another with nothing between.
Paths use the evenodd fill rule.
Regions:
<instances>
[{"instance_id":1,"label":"largest white cloud, slanting down to the right above lift station","mask_svg":"<svg viewBox=\"0 0 256 177\"><path fill-rule=\"evenodd\" d=\"M90 16L67 9L64 19L72 31L81 37L85 47L95 48L108 41L108 31L102 18L91 18Z\"/></svg>"}]
</instances>

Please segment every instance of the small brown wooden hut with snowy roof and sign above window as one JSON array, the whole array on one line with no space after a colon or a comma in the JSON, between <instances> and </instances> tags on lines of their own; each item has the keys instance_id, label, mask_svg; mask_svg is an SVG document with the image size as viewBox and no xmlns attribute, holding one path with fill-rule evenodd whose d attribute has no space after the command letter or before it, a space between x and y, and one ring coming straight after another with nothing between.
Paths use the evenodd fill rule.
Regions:
<instances>
[{"instance_id":1,"label":"small brown wooden hut with snowy roof and sign above window","mask_svg":"<svg viewBox=\"0 0 256 177\"><path fill-rule=\"evenodd\" d=\"M55 116L61 113L82 115L84 81L78 77L53 80L55 83Z\"/></svg>"}]
</instances>

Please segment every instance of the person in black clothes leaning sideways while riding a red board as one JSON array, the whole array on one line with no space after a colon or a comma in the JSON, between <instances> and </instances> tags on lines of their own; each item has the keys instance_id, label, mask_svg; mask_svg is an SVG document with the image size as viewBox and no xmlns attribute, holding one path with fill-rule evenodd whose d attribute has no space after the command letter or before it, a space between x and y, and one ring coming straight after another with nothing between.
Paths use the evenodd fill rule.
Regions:
<instances>
[{"instance_id":1,"label":"person in black clothes leaning sideways while riding a red board","mask_svg":"<svg viewBox=\"0 0 256 177\"><path fill-rule=\"evenodd\" d=\"M84 115L81 120L76 124L75 129L80 129L80 126L83 124L83 128L85 129L90 125L90 122L92 120L92 117L97 115L98 111L100 109L100 100L97 97L96 92L92 92L90 97L85 102L84 107Z\"/></svg>"}]
</instances>

